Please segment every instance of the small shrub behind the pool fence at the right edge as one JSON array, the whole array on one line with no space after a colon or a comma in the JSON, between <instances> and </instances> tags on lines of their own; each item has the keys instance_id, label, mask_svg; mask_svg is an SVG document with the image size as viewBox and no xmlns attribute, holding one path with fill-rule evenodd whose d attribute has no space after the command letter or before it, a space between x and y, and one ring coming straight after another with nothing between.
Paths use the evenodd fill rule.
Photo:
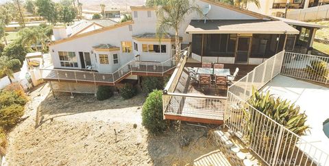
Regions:
<instances>
[{"instance_id":1,"label":"small shrub behind the pool fence at the right edge","mask_svg":"<svg viewBox=\"0 0 329 166\"><path fill-rule=\"evenodd\" d=\"M324 77L329 76L327 62L325 62L324 60L312 60L310 61L310 65L307 65L306 69L311 75L315 73Z\"/></svg>"}]
</instances>

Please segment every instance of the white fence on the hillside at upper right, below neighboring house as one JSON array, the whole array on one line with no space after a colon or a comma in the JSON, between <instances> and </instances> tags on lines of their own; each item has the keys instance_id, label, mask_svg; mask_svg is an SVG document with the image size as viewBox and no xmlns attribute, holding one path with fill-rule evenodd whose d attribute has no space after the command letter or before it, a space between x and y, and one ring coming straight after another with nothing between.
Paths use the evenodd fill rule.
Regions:
<instances>
[{"instance_id":1,"label":"white fence on the hillside at upper right, below neighboring house","mask_svg":"<svg viewBox=\"0 0 329 166\"><path fill-rule=\"evenodd\" d=\"M291 10L287 12L287 19L298 21L329 19L329 5L318 5L317 7L313 8Z\"/></svg>"}]
</instances>

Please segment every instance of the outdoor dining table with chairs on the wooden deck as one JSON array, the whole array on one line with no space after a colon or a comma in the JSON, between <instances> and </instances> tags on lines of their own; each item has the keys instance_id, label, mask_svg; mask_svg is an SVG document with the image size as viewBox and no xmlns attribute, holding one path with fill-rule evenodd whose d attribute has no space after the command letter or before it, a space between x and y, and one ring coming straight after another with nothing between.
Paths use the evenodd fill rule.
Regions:
<instances>
[{"instance_id":1,"label":"outdoor dining table with chairs on the wooden deck","mask_svg":"<svg viewBox=\"0 0 329 166\"><path fill-rule=\"evenodd\" d=\"M239 72L236 68L234 74L231 75L230 69L224 69L224 64L203 62L202 67L189 67L189 77L201 85L215 85L227 88Z\"/></svg>"}]
</instances>

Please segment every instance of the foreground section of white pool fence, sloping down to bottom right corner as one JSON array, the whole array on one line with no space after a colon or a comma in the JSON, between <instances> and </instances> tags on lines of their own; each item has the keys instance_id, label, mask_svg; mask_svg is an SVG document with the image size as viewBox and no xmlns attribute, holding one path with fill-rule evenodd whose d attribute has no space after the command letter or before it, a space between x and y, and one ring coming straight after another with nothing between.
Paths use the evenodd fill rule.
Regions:
<instances>
[{"instance_id":1,"label":"foreground section of white pool fence, sloping down to bottom right corner","mask_svg":"<svg viewBox=\"0 0 329 166\"><path fill-rule=\"evenodd\" d=\"M226 126L267 165L329 165L328 154L228 93Z\"/></svg>"}]
</instances>

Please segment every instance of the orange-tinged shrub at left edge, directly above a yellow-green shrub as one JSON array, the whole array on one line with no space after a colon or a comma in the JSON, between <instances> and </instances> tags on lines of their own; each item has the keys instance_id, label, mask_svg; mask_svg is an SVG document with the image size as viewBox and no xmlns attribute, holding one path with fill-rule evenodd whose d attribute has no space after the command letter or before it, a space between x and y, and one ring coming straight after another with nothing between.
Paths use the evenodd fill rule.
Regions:
<instances>
[{"instance_id":1,"label":"orange-tinged shrub at left edge, directly above a yellow-green shrub","mask_svg":"<svg viewBox=\"0 0 329 166\"><path fill-rule=\"evenodd\" d=\"M17 104L24 106L27 102L27 97L23 91L1 91L0 92L0 108Z\"/></svg>"}]
</instances>

